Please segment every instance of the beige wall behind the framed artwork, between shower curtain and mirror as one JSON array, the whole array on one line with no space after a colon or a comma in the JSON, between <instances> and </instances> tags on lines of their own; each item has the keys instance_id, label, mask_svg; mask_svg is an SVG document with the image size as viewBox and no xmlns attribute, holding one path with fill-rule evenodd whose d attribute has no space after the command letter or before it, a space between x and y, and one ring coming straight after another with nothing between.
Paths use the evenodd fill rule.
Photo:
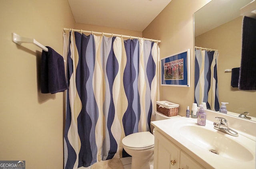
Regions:
<instances>
[{"instance_id":1,"label":"beige wall behind the framed artwork, between shower curtain and mirror","mask_svg":"<svg viewBox=\"0 0 256 169\"><path fill-rule=\"evenodd\" d=\"M190 49L190 87L160 86L160 100L180 104L181 116L194 102L193 14L210 0L172 0L142 32L143 37L161 40L160 58Z\"/></svg>"}]
</instances>

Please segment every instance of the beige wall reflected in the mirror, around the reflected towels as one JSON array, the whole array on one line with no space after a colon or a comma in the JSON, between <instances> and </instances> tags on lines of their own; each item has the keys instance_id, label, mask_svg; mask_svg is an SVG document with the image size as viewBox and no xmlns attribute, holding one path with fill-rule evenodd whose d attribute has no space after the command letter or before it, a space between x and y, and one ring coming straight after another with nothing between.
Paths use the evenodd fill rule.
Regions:
<instances>
[{"instance_id":1,"label":"beige wall reflected in the mirror, around the reflected towels","mask_svg":"<svg viewBox=\"0 0 256 169\"><path fill-rule=\"evenodd\" d=\"M255 100L256 92L232 88L230 85L231 73L225 73L225 69L240 67L242 49L241 32L242 16L199 35L195 38L195 45L218 49L220 53L217 68L219 101L229 102L226 106L230 112L250 112L250 116L256 116L256 105L251 101Z\"/></svg>"}]
</instances>

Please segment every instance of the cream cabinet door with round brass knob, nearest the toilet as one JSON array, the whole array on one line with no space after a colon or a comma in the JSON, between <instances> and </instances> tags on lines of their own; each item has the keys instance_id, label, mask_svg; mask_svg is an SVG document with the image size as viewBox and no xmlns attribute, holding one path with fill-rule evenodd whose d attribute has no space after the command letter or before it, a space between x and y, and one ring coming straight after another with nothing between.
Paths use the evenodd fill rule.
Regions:
<instances>
[{"instance_id":1,"label":"cream cabinet door with round brass knob, nearest the toilet","mask_svg":"<svg viewBox=\"0 0 256 169\"><path fill-rule=\"evenodd\" d=\"M154 169L178 169L180 166L180 149L171 141L155 132Z\"/></svg>"}]
</instances>

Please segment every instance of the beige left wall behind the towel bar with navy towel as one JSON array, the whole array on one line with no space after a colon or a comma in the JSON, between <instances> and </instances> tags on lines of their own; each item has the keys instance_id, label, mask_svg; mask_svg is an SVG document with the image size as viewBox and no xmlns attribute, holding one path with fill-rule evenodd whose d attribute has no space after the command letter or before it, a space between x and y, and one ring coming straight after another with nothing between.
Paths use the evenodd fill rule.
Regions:
<instances>
[{"instance_id":1,"label":"beige left wall behind the towel bar with navy towel","mask_svg":"<svg viewBox=\"0 0 256 169\"><path fill-rule=\"evenodd\" d=\"M12 32L62 54L62 28L74 27L66 0L0 0L0 160L26 169L63 168L63 93L40 93L39 47L12 42Z\"/></svg>"}]
</instances>

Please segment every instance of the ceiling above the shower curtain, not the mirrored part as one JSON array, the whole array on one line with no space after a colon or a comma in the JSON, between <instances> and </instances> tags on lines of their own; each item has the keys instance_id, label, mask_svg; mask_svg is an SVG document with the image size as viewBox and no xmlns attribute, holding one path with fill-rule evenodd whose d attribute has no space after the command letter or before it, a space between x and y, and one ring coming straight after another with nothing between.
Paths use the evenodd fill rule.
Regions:
<instances>
[{"instance_id":1,"label":"ceiling above the shower curtain, not the mirrored part","mask_svg":"<svg viewBox=\"0 0 256 169\"><path fill-rule=\"evenodd\" d=\"M68 0L75 22L143 31L171 0Z\"/></svg>"}]
</instances>

